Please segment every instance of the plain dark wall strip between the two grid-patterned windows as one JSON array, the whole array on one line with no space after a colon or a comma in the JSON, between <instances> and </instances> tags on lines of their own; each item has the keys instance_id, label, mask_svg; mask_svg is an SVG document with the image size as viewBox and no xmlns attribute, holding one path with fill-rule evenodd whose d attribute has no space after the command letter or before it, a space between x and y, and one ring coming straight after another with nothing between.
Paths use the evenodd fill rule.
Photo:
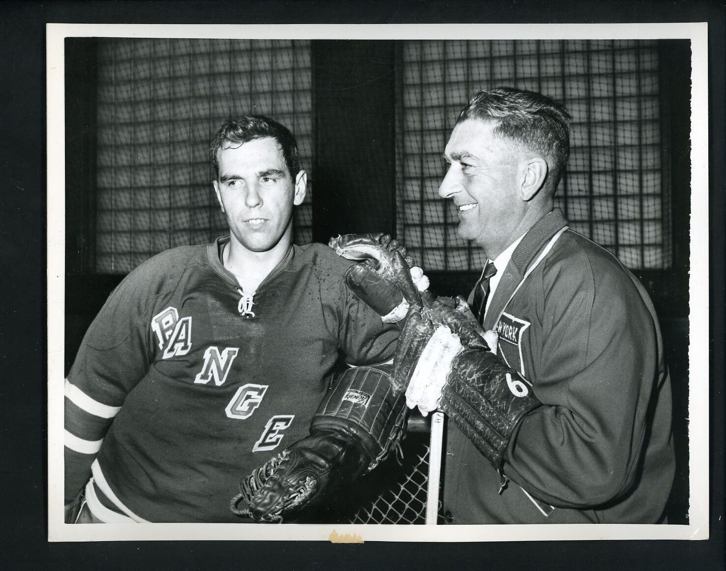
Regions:
<instances>
[{"instance_id":1,"label":"plain dark wall strip between the two grid-patterned windows","mask_svg":"<svg viewBox=\"0 0 726 571\"><path fill-rule=\"evenodd\" d=\"M393 41L314 41L313 238L396 228Z\"/></svg>"}]
</instances>

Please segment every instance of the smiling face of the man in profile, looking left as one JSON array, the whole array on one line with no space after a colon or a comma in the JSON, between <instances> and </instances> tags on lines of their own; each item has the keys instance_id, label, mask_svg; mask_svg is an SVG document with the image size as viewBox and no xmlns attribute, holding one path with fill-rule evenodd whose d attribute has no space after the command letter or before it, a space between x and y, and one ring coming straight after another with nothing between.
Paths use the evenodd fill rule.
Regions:
<instances>
[{"instance_id":1,"label":"smiling face of the man in profile, looking left","mask_svg":"<svg viewBox=\"0 0 726 571\"><path fill-rule=\"evenodd\" d=\"M510 234L525 207L518 192L521 150L495 135L496 127L496 120L479 119L454 127L444 152L449 171L439 186L439 195L457 206L459 236L488 255L518 238Z\"/></svg>"}]
</instances>

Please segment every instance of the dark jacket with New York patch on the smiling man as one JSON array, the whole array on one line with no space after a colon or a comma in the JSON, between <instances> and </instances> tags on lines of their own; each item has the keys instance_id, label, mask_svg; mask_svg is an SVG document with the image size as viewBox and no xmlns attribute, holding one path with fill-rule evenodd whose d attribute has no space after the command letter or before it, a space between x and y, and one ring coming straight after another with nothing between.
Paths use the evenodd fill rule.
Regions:
<instances>
[{"instance_id":1,"label":"dark jacket with New York patch on the smiling man","mask_svg":"<svg viewBox=\"0 0 726 571\"><path fill-rule=\"evenodd\" d=\"M501 493L501 476L448 423L446 519L661 522L675 468L671 386L635 276L553 210L513 252L484 329L499 333L497 354L542 406L510 440Z\"/></svg>"}]
</instances>

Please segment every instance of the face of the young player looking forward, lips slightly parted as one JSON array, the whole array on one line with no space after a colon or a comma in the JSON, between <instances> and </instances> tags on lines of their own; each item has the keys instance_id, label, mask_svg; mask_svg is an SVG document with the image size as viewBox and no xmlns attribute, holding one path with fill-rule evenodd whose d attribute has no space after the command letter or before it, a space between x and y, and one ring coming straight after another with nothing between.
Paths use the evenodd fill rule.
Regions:
<instances>
[{"instance_id":1,"label":"face of the young player looking forward, lips slightly parted","mask_svg":"<svg viewBox=\"0 0 726 571\"><path fill-rule=\"evenodd\" d=\"M295 180L275 139L254 139L219 151L217 200L234 239L250 252L292 240L293 205L303 202L305 171Z\"/></svg>"}]
</instances>

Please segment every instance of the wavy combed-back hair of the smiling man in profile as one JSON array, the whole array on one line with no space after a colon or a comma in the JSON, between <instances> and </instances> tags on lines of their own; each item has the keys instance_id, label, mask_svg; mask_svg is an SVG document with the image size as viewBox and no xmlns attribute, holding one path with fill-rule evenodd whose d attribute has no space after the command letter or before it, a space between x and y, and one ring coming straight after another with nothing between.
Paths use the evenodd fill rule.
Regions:
<instances>
[{"instance_id":1,"label":"wavy combed-back hair of the smiling man in profile","mask_svg":"<svg viewBox=\"0 0 726 571\"><path fill-rule=\"evenodd\" d=\"M539 152L550 167L552 191L557 188L570 156L570 115L562 105L534 91L497 87L473 96L457 124L470 118L496 120L495 135Z\"/></svg>"}]
</instances>

